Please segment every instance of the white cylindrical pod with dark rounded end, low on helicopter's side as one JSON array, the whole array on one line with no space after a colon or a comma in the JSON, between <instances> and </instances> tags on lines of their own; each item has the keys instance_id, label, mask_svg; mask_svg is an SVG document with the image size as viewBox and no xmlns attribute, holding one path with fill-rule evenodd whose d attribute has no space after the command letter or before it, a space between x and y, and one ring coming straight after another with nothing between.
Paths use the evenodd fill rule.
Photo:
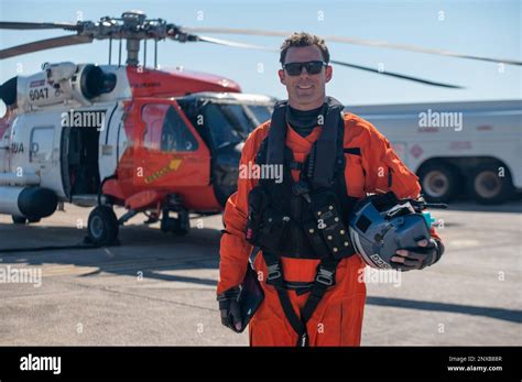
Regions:
<instances>
[{"instance_id":1,"label":"white cylindrical pod with dark rounded end, low on helicopter's side","mask_svg":"<svg viewBox=\"0 0 522 382\"><path fill-rule=\"evenodd\" d=\"M0 214L41 219L56 210L56 194L43 187L0 187Z\"/></svg>"}]
</instances>

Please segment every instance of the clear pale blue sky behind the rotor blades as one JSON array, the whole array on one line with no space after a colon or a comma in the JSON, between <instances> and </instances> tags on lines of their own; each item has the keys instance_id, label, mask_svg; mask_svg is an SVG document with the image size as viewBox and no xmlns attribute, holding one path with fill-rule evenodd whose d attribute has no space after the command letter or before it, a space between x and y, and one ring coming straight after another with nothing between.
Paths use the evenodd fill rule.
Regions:
<instances>
[{"instance_id":1,"label":"clear pale blue sky behind the rotor blades","mask_svg":"<svg viewBox=\"0 0 522 382\"><path fill-rule=\"evenodd\" d=\"M308 31L318 35L341 35L385 40L394 43L445 48L460 53L522 59L521 1L34 1L0 0L1 21L75 21L119 17L140 9L150 18L162 18L184 26L250 28L278 31ZM202 13L203 12L203 13ZM202 17L203 20L198 20ZM323 15L323 20L319 20ZM2 31L0 46L9 47L33 40L69 32ZM209 34L210 35L210 34ZM281 37L217 35L240 42L279 47ZM238 81L244 92L285 98L279 83L279 56L271 52L243 51L210 44L160 42L159 62L163 67L214 73ZM494 63L439 57L420 53L328 44L331 58L378 67L467 89L443 89L334 67L327 94L345 105L402 103L421 101L521 99L522 68ZM152 57L149 44L148 59ZM117 56L113 52L113 57ZM141 56L141 55L140 55ZM115 58L113 58L115 59ZM106 64L108 42L98 41L13 57L0 62L0 80L40 69L43 62L73 61ZM152 62L149 62L152 64ZM259 73L262 64L264 72Z\"/></svg>"}]
</instances>

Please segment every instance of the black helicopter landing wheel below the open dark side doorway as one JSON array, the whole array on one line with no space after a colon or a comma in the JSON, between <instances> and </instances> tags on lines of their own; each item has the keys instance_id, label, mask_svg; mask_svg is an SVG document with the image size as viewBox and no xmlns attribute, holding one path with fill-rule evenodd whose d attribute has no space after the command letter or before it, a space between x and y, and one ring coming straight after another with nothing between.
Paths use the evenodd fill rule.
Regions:
<instances>
[{"instance_id":1,"label":"black helicopter landing wheel below the open dark side doorway","mask_svg":"<svg viewBox=\"0 0 522 382\"><path fill-rule=\"evenodd\" d=\"M89 241L96 245L110 245L118 238L119 223L112 208L98 206L89 215L87 223Z\"/></svg>"}]
</instances>

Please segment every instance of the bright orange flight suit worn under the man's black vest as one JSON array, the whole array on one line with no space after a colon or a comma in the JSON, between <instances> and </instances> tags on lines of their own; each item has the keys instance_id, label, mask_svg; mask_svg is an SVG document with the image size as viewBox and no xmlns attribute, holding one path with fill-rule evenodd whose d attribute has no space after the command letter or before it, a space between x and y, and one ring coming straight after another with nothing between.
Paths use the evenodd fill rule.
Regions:
<instances>
[{"instance_id":1,"label":"bright orange flight suit worn under the man's black vest","mask_svg":"<svg viewBox=\"0 0 522 382\"><path fill-rule=\"evenodd\" d=\"M416 198L421 187L417 176L412 173L391 149L389 141L368 121L345 113L344 148L359 148L345 151L345 178L349 196L363 198L366 193L392 190L399 198ZM254 164L261 142L268 137L270 121L258 127L247 139L241 155L241 165ZM305 138L290 125L286 145L293 151L297 162L304 162L313 143L320 134L316 127ZM298 170L292 170L294 181ZM244 276L253 247L246 240L244 230L248 216L248 196L257 185L255 178L238 178L238 190L227 201L220 242L219 283L217 293L238 286ZM432 237L439 239L432 227ZM282 258L286 281L313 282L319 260ZM311 346L359 346L361 340L362 313L366 285L362 272L366 264L359 255L342 259L336 272L336 285L330 287L308 320L306 328ZM251 346L295 346L297 334L287 321L275 288L265 284L267 266L262 252L255 257L254 269L260 275L264 301L250 321ZM300 314L309 293L296 295L287 291L294 310Z\"/></svg>"}]
</instances>

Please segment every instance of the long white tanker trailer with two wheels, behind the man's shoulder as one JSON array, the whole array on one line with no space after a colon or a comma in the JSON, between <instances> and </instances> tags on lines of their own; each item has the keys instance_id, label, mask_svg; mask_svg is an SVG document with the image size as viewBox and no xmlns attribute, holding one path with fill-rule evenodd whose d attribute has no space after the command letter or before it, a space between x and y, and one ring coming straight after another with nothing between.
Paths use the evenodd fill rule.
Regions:
<instances>
[{"instance_id":1,"label":"long white tanker trailer with two wheels, behind the man's shoulder","mask_svg":"<svg viewBox=\"0 0 522 382\"><path fill-rule=\"evenodd\" d=\"M426 199L508 200L522 189L522 100L354 106L414 171Z\"/></svg>"}]
</instances>

